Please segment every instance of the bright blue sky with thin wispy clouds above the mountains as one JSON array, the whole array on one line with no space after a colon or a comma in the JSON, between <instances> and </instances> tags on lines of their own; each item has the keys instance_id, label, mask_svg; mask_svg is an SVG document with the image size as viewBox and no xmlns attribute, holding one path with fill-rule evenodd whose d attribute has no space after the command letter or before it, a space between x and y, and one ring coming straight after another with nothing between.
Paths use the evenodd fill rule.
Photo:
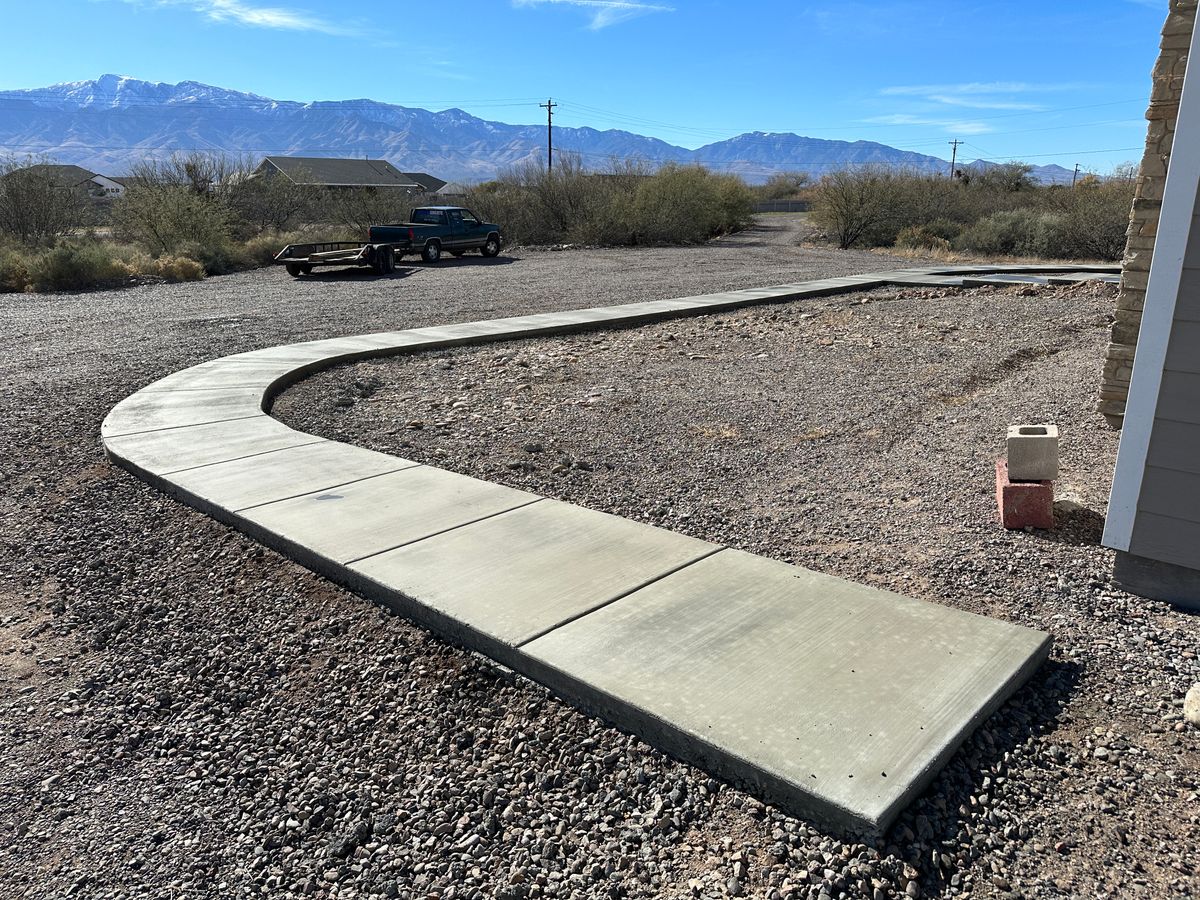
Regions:
<instances>
[{"instance_id":1,"label":"bright blue sky with thin wispy clouds above the mountains","mask_svg":"<svg viewBox=\"0 0 1200 900\"><path fill-rule=\"evenodd\" d=\"M1140 157L1166 0L46 0L0 90L128 74L370 97L696 148L746 131L1109 170ZM53 23L48 26L48 23ZM19 37L18 37L19 36Z\"/></svg>"}]
</instances>

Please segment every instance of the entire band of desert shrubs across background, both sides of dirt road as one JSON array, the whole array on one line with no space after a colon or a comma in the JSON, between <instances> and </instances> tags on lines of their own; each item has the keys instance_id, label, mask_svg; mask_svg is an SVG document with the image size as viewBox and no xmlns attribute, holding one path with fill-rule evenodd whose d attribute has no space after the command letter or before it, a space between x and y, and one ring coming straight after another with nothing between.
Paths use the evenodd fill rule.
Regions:
<instances>
[{"instance_id":1,"label":"entire band of desert shrubs across background, both sides of dirt road","mask_svg":"<svg viewBox=\"0 0 1200 900\"><path fill-rule=\"evenodd\" d=\"M288 242L365 239L368 226L402 221L428 199L256 178L257 161L190 152L142 162L120 198L97 200L37 162L0 160L0 292L224 275L269 264ZM954 179L860 167L749 187L698 166L614 161L593 172L562 154L552 168L530 162L473 187L467 204L518 245L700 244L744 228L757 200L804 199L815 228L842 248L1120 259L1133 175L1066 187L1036 184L1020 163Z\"/></svg>"}]
</instances>

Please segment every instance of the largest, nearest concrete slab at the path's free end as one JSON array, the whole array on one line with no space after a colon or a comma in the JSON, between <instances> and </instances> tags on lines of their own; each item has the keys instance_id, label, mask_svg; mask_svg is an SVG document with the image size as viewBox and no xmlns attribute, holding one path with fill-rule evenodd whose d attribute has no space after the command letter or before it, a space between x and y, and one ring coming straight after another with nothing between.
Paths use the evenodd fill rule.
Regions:
<instances>
[{"instance_id":1,"label":"largest, nearest concrete slab at the path's free end","mask_svg":"<svg viewBox=\"0 0 1200 900\"><path fill-rule=\"evenodd\" d=\"M802 815L878 830L1050 638L726 550L526 644L540 680Z\"/></svg>"}]
</instances>

